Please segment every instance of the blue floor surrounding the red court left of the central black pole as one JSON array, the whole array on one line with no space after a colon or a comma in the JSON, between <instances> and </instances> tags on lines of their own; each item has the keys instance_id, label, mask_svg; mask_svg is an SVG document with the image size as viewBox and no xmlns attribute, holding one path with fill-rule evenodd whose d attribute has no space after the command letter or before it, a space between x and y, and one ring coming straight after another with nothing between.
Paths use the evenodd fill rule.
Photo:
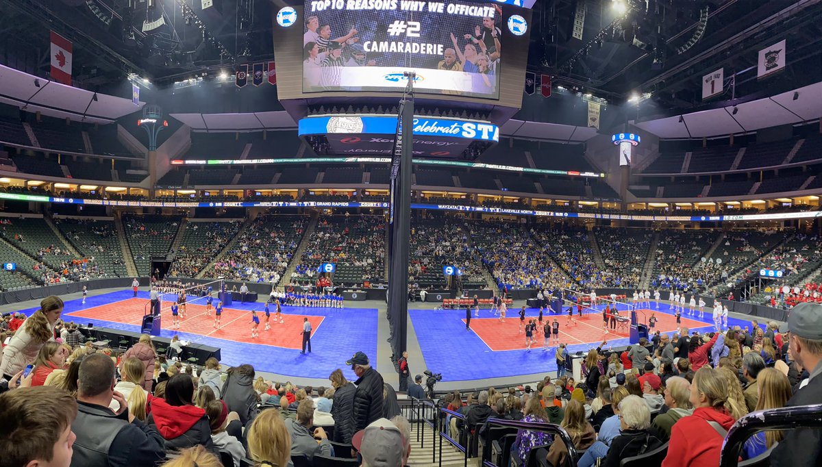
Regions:
<instances>
[{"instance_id":1,"label":"blue floor surrounding the red court left of the central black pole","mask_svg":"<svg viewBox=\"0 0 822 467\"><path fill-rule=\"evenodd\" d=\"M139 292L137 298L148 300L148 292ZM110 305L120 300L132 298L132 290L122 290L109 294L96 295L86 298L85 305L81 303L81 298L69 300L63 309L64 321L75 321L78 324L93 323L94 326L109 327L123 331L140 332L139 325L123 324L116 321L100 321L94 319L70 317L68 313L76 312L84 308ZM194 297L189 298L189 303L204 302L194 301ZM165 306L165 303L164 303ZM262 303L233 303L229 308L249 310L261 310ZM26 315L37 310L36 307L20 310ZM378 313L376 308L321 308L321 307L290 307L282 308L283 314L298 314L307 316L325 317L321 326L316 328L312 335L312 353L302 355L299 350L284 349L266 344L245 344L224 340L204 335L177 332L169 329L162 331L163 337L172 337L177 334L181 340L187 340L194 344L206 344L221 349L221 356L224 368L236 366L242 363L250 363L257 371L272 372L284 376L306 377L327 379L331 372L341 368L349 379L356 379L350 368L345 366L345 361L351 358L358 351L363 351L376 366L376 332ZM211 319L211 318L208 318ZM124 320L128 321L128 320ZM164 326L169 323L164 320ZM243 326L245 328L245 326ZM262 328L261 328L262 329ZM272 329L276 329L272 326ZM294 336L299 338L298 335ZM386 368L386 371L390 371Z\"/></svg>"}]
</instances>

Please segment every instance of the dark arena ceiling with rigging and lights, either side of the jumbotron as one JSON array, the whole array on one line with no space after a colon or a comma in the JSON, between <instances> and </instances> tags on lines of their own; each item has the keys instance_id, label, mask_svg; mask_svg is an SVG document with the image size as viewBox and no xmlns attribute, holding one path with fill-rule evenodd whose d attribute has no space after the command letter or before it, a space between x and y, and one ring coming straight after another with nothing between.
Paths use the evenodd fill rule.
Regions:
<instances>
[{"instance_id":1,"label":"dark arena ceiling with rigging and lights, either side of the jumbotron","mask_svg":"<svg viewBox=\"0 0 822 467\"><path fill-rule=\"evenodd\" d=\"M5 0L0 62L45 76L53 29L74 42L74 77L85 89L105 92L128 73L170 85L273 57L272 5L283 4L275 2L215 0L204 10L192 0ZM584 26L574 37L579 8ZM160 16L164 25L143 31ZM654 105L640 114L659 117L702 109L700 79L718 67L739 73L733 97L741 100L822 81L820 25L822 0L543 0L533 7L528 67L610 103L649 93ZM756 51L774 38L795 44L785 77L758 81Z\"/></svg>"}]
</instances>

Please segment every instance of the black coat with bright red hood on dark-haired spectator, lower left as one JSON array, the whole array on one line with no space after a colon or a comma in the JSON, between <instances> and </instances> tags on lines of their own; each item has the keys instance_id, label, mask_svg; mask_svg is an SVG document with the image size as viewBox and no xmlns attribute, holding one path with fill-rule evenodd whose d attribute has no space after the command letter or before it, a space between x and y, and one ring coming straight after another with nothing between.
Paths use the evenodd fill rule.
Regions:
<instances>
[{"instance_id":1,"label":"black coat with bright red hood on dark-haired spectator, lower left","mask_svg":"<svg viewBox=\"0 0 822 467\"><path fill-rule=\"evenodd\" d=\"M157 428L166 449L182 450L198 444L219 455L211 442L211 428L205 410L196 405L169 405L164 399L151 400L151 414L145 421Z\"/></svg>"}]
</instances>

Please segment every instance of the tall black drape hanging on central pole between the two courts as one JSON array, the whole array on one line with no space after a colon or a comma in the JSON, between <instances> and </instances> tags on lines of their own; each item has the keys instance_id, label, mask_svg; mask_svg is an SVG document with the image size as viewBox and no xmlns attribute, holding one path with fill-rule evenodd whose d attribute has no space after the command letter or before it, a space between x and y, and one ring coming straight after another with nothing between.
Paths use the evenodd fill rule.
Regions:
<instances>
[{"instance_id":1,"label":"tall black drape hanging on central pole between the two courts","mask_svg":"<svg viewBox=\"0 0 822 467\"><path fill-rule=\"evenodd\" d=\"M413 81L413 79L409 79ZM408 91L408 90L406 90ZM408 336L409 235L411 232L411 158L413 155L413 99L400 102L399 125L391 164L388 231L388 321L393 360L402 356ZM408 136L408 137L404 137Z\"/></svg>"}]
</instances>

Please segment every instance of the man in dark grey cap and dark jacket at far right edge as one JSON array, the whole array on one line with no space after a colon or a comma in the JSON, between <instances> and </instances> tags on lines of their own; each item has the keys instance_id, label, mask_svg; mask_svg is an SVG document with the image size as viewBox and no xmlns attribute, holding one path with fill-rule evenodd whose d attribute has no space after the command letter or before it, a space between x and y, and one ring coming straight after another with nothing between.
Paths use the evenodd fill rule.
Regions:
<instances>
[{"instance_id":1,"label":"man in dark grey cap and dark jacket at far right edge","mask_svg":"<svg viewBox=\"0 0 822 467\"><path fill-rule=\"evenodd\" d=\"M802 383L805 386L787 401L786 406L822 404L822 305L800 303L793 307L787 324L779 331L790 333L788 351L791 358L810 372L807 382ZM822 455L822 430L797 428L785 431L784 435L785 439L770 455L771 465L818 465Z\"/></svg>"}]
</instances>

